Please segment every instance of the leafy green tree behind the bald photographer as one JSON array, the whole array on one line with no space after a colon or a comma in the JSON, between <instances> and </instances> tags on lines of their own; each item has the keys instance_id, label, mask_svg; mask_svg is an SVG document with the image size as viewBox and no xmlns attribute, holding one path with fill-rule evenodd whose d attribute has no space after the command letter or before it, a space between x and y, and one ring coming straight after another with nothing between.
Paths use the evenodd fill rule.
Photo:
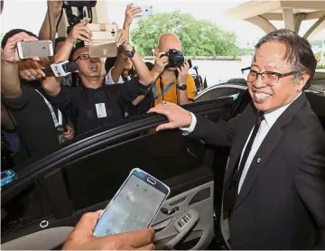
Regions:
<instances>
[{"instance_id":1,"label":"leafy green tree behind the bald photographer","mask_svg":"<svg viewBox=\"0 0 325 251\"><path fill-rule=\"evenodd\" d=\"M131 33L132 42L143 55L152 55L163 33L174 33L181 39L185 55L188 56L236 56L237 37L216 23L196 20L191 14L180 11L154 14L139 20Z\"/></svg>"}]
</instances>

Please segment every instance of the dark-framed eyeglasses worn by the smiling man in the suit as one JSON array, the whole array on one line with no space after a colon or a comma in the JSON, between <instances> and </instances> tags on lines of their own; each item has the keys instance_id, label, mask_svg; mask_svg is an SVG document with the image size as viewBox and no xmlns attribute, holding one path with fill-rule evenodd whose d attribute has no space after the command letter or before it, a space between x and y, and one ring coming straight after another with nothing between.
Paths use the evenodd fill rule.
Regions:
<instances>
[{"instance_id":1,"label":"dark-framed eyeglasses worn by the smiling man in the suit","mask_svg":"<svg viewBox=\"0 0 325 251\"><path fill-rule=\"evenodd\" d=\"M247 82L255 82L258 76L261 75L262 81L268 86L275 86L279 79L298 73L296 70L287 73L279 73L274 71L264 71L260 73L256 70L252 70L251 67L244 68L241 71L242 74L245 75Z\"/></svg>"}]
</instances>

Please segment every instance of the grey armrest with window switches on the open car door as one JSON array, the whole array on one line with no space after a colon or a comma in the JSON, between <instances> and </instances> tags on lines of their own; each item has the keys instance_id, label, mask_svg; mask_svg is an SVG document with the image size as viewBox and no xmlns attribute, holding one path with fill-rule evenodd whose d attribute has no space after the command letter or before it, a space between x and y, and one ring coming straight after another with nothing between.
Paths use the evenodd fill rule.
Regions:
<instances>
[{"instance_id":1,"label":"grey armrest with window switches on the open car door","mask_svg":"<svg viewBox=\"0 0 325 251\"><path fill-rule=\"evenodd\" d=\"M184 225L182 225L182 222L184 222L183 221L184 217L188 218L187 217L188 215L190 215L190 219ZM179 233L175 237L172 237L172 239L170 239L169 241L156 245L155 249L156 250L172 249L174 246L178 245L181 242L182 238L185 237L185 235L190 232L190 230L195 226L195 224L199 221L199 219L200 219L200 215L198 211L195 209L190 209L189 211L184 213L174 223L174 227L177 229Z\"/></svg>"}]
</instances>

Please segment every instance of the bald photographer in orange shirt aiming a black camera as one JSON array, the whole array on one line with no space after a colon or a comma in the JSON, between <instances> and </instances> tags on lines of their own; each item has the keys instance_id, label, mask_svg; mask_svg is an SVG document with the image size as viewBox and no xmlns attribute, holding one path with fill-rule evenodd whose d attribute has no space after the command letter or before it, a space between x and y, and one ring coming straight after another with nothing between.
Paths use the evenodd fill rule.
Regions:
<instances>
[{"instance_id":1,"label":"bald photographer in orange shirt aiming a black camera","mask_svg":"<svg viewBox=\"0 0 325 251\"><path fill-rule=\"evenodd\" d=\"M155 50L156 58L151 71L155 80L153 82L153 97L156 106L162 101L178 105L186 105L194 101L196 88L194 79L188 74L190 66L185 62L180 67L170 67L171 62L166 55L170 50L176 50L180 54L182 51L181 41L174 34L166 33L161 36L158 49Z\"/></svg>"}]
</instances>

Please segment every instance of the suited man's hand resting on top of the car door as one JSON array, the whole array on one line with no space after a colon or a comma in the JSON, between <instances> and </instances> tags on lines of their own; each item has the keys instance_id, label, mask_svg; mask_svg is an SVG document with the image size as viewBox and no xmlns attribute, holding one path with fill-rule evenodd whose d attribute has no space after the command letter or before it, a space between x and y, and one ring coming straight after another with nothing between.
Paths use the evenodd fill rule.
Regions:
<instances>
[{"instance_id":1,"label":"suited man's hand resting on top of the car door","mask_svg":"<svg viewBox=\"0 0 325 251\"><path fill-rule=\"evenodd\" d=\"M167 116L169 123L158 125L156 131L174 129L180 127L190 127L192 118L190 112L173 103L165 103L151 108L148 113L157 113Z\"/></svg>"}]
</instances>

